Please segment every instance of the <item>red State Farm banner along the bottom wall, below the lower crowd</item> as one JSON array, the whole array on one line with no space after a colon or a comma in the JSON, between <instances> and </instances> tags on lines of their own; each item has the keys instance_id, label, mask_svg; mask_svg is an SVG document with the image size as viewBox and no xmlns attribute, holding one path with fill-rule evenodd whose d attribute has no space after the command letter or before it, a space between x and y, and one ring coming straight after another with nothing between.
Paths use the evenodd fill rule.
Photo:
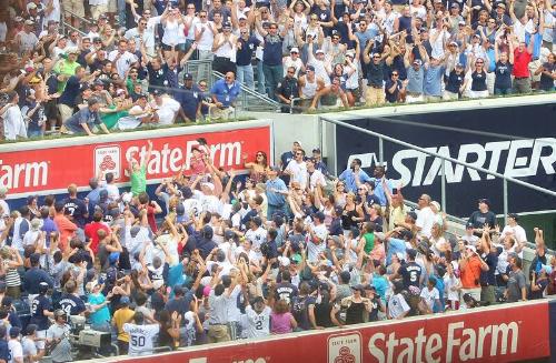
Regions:
<instances>
[{"instance_id":1,"label":"red State Farm banner along the bottom wall, below the lower crowd","mask_svg":"<svg viewBox=\"0 0 556 363\"><path fill-rule=\"evenodd\" d=\"M236 341L135 357L140 363L515 362L550 356L548 303Z\"/></svg>"}]
</instances>

